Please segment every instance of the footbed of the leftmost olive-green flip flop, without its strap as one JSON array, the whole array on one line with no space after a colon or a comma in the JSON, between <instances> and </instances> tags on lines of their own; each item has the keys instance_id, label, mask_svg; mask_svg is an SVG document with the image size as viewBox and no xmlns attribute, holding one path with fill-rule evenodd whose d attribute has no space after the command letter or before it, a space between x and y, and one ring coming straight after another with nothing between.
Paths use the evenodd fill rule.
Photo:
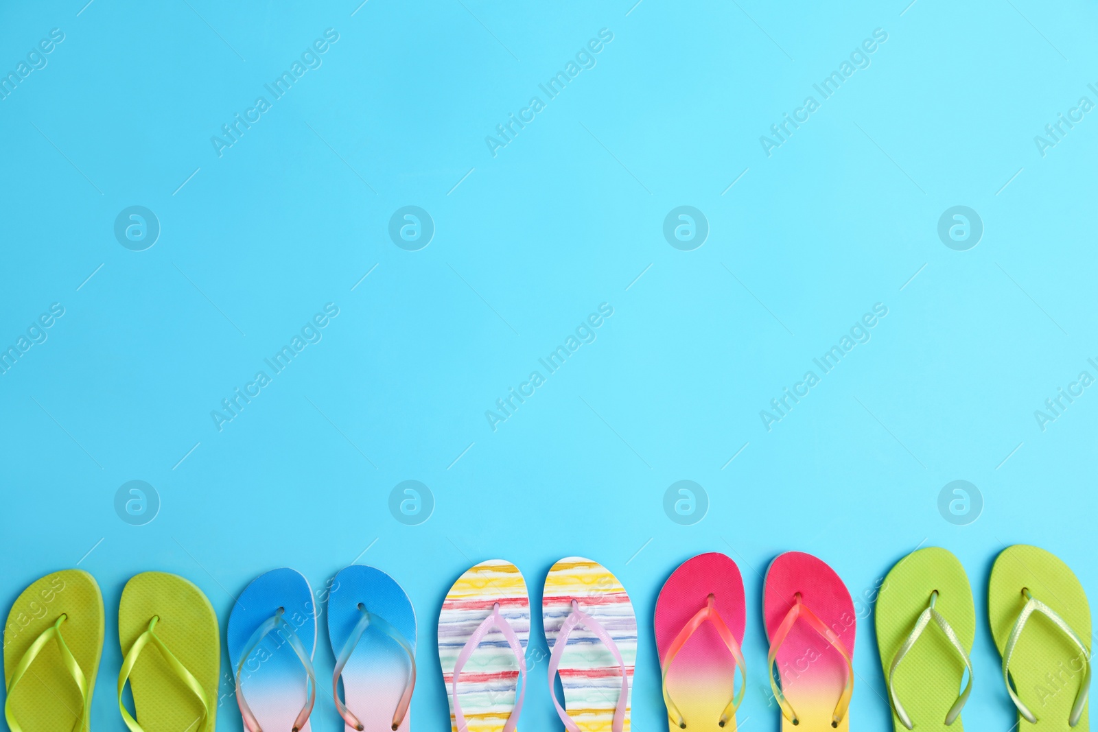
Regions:
<instances>
[{"instance_id":1,"label":"footbed of the leftmost olive-green flip flop, without its strap","mask_svg":"<svg viewBox=\"0 0 1098 732\"><path fill-rule=\"evenodd\" d=\"M94 578L81 570L64 570L42 577L23 590L4 626L4 686L11 683L23 654L61 615L61 637L88 682L96 686L103 652L103 596ZM83 702L76 682L51 641L38 653L11 695L12 716L24 732L71 730ZM87 732L85 719L78 731Z\"/></svg>"}]
</instances>

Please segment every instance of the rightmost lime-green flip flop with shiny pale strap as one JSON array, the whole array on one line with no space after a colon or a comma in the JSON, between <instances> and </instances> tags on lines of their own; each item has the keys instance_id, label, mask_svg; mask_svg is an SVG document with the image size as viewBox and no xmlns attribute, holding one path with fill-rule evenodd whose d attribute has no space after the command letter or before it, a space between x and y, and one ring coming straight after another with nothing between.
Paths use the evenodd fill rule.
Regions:
<instances>
[{"instance_id":1,"label":"rightmost lime-green flip flop with shiny pale strap","mask_svg":"<svg viewBox=\"0 0 1098 732\"><path fill-rule=\"evenodd\" d=\"M991 567L987 617L1019 729L1087 732L1090 605L1075 574L1043 549L1008 547Z\"/></svg>"}]
</instances>

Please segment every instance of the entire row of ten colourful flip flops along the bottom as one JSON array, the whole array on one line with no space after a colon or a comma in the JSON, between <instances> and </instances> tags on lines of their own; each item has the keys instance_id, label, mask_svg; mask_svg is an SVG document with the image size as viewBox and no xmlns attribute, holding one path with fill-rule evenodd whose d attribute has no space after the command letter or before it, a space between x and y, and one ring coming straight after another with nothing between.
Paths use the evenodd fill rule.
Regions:
<instances>
[{"instance_id":1,"label":"entire row of ten colourful flip flops along the bottom","mask_svg":"<svg viewBox=\"0 0 1098 732\"><path fill-rule=\"evenodd\" d=\"M783 730L849 729L858 615L850 593L831 567L802 552L775 558L763 584ZM896 729L960 729L952 725L972 690L976 629L964 567L944 549L920 549L878 583L874 599ZM246 730L307 732L325 610L336 657L332 694L346 728L406 732L415 612L392 577L362 565L317 593L300 573L274 570L236 600L227 645ZM79 570L47 575L15 600L4 628L12 732L88 732L103 615L99 586ZM546 577L541 616L550 695L568 732L629 730L637 623L621 584L595 562L563 559ZM514 732L531 663L530 620L525 579L509 562L478 564L450 588L438 649L455 732ZM1090 611L1072 571L1035 547L1004 550L988 584L988 620L1023 729L1088 730ZM736 729L747 686L746 623L742 577L728 556L701 554L668 578L654 630L672 732ZM133 577L119 605L119 641L117 702L131 732L213 732L219 627L198 587L160 572ZM557 677L563 706L552 692ZM127 682L135 714L124 702Z\"/></svg>"}]
</instances>

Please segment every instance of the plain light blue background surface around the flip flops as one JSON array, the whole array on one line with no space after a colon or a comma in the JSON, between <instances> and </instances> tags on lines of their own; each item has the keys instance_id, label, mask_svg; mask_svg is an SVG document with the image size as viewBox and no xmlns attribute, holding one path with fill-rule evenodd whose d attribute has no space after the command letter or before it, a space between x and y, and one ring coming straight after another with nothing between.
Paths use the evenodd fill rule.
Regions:
<instances>
[{"instance_id":1,"label":"plain light blue background surface around the flip flops","mask_svg":"<svg viewBox=\"0 0 1098 732\"><path fill-rule=\"evenodd\" d=\"M635 729L663 729L656 597L710 550L747 582L740 722L774 729L755 609L768 562L813 552L864 601L934 544L964 563L981 618L964 720L1015 723L984 621L995 555L1035 543L1098 587L1098 394L1044 431L1033 414L1080 371L1098 375L1086 361L1098 357L1098 113L1045 157L1033 142L1080 97L1098 101L1098 11L632 2L0 11L4 72L65 33L0 101L0 342L65 307L0 375L2 597L63 567L98 578L93 729L124 729L115 610L137 572L192 579L223 629L233 596L272 567L314 589L356 558L389 572L419 621L413 722L441 730L432 639L446 589L500 556L537 605L548 567L572 554L629 589ZM323 66L219 158L210 137L328 27L339 41ZM493 158L484 137L603 27L614 41L597 66ZM768 158L759 136L878 27L888 41L870 68ZM957 204L985 226L968 251L937 235ZM114 238L130 205L159 218L146 251ZM422 251L389 239L404 205L434 218ZM695 251L663 239L679 205L708 218ZM323 340L219 432L211 410L329 302L339 316ZM492 431L484 412L603 302L614 315L597 340ZM768 432L760 409L878 302L888 315L872 340ZM163 503L143 527L114 513L131 480ZM405 480L434 492L421 526L389 513ZM663 513L679 480L708 493L694 526ZM983 493L974 523L938 513L953 480ZM329 674L330 649L316 655ZM524 732L561 729L545 667ZM852 729L888 729L872 617L855 669ZM326 699L316 732L341 729ZM219 728L240 729L231 698Z\"/></svg>"}]
</instances>

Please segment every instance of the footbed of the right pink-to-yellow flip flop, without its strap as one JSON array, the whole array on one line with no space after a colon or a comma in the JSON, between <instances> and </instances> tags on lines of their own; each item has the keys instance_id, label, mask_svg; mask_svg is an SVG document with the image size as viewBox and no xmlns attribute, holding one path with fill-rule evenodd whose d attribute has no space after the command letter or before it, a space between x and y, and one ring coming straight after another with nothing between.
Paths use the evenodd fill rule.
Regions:
<instances>
[{"instance_id":1,"label":"footbed of the right pink-to-yellow flip flop, without its strap","mask_svg":"<svg viewBox=\"0 0 1098 732\"><path fill-rule=\"evenodd\" d=\"M766 638L774 632L799 593L802 601L830 628L853 656L858 618L847 586L819 559L804 552L778 554L766 570L763 592L763 620ZM794 724L782 714L784 732L845 732L850 729L850 712L838 728L831 727L831 714L842 695L849 671L842 655L803 619L789 630L775 658L782 691L797 712ZM855 679L854 691L858 691Z\"/></svg>"}]
</instances>

